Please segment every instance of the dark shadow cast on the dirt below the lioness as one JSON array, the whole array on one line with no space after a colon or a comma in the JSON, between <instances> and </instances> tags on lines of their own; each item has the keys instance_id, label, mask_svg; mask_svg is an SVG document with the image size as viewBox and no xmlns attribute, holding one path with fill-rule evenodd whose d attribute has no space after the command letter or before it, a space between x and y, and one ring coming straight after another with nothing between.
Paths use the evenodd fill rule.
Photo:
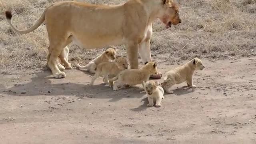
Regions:
<instances>
[{"instance_id":1,"label":"dark shadow cast on the dirt below the lioness","mask_svg":"<svg viewBox=\"0 0 256 144\"><path fill-rule=\"evenodd\" d=\"M81 76L77 74L76 70L65 70L65 72L67 74L66 78L56 79L52 77L51 71L46 69L43 72L36 73L36 76L31 78L28 83L17 83L11 88L2 86L0 90L10 96L71 95L90 98L110 98L110 102L115 102L122 98L141 98L143 96L143 94L140 94L140 88L126 87L114 91L104 84L89 86L88 82L84 82L83 78L79 78ZM74 81L77 83L73 83Z\"/></svg>"}]
</instances>

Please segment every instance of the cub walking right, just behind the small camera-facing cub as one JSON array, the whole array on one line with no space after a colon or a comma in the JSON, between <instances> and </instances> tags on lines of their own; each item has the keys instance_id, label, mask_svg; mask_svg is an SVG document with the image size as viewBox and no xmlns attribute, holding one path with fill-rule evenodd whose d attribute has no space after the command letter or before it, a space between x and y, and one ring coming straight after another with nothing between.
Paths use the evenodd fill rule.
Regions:
<instances>
[{"instance_id":1,"label":"cub walking right, just behind the small camera-facing cub","mask_svg":"<svg viewBox=\"0 0 256 144\"><path fill-rule=\"evenodd\" d=\"M143 81L148 81L150 75L157 73L157 64L148 62L140 69L127 69L120 72L116 77L108 80L115 81L113 90L118 90L118 87L128 84L129 86L142 84Z\"/></svg>"}]
</instances>

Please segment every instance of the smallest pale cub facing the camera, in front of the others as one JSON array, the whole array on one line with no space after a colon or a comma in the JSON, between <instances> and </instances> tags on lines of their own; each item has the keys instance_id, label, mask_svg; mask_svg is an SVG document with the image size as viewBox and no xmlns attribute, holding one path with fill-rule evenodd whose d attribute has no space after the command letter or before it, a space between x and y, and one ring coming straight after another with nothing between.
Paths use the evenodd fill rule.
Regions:
<instances>
[{"instance_id":1,"label":"smallest pale cub facing the camera, in front of the others","mask_svg":"<svg viewBox=\"0 0 256 144\"><path fill-rule=\"evenodd\" d=\"M154 106L154 102L156 102L156 107L161 107L161 101L164 99L164 89L159 86L159 82L143 81L142 86L148 96L148 106Z\"/></svg>"}]
</instances>

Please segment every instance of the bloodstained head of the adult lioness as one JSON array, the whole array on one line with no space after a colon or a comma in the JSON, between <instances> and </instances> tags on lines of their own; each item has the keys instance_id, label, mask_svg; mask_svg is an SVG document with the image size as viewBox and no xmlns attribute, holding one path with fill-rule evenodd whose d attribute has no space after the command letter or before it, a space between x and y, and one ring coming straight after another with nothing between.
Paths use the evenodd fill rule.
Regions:
<instances>
[{"instance_id":1,"label":"bloodstained head of the adult lioness","mask_svg":"<svg viewBox=\"0 0 256 144\"><path fill-rule=\"evenodd\" d=\"M166 28L170 28L172 24L177 25L181 23L179 16L179 8L173 0L162 0L164 10L160 20L165 24Z\"/></svg>"}]
</instances>

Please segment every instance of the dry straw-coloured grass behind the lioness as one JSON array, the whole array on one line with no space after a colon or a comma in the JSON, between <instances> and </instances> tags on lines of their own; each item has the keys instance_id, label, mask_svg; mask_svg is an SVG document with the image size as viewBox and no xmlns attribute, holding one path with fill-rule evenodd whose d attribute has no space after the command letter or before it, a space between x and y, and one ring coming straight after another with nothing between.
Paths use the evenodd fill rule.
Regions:
<instances>
[{"instance_id":1,"label":"dry straw-coloured grass behind the lioness","mask_svg":"<svg viewBox=\"0 0 256 144\"><path fill-rule=\"evenodd\" d=\"M5 10L12 10L12 22L19 29L32 26L44 8L60 0L0 0L0 66L16 69L42 68L46 64L48 36L42 24L29 34L16 34L6 22ZM80 0L94 4L119 4L124 0ZM166 30L156 21L151 50L154 59L187 60L256 55L256 0L178 0L182 23ZM125 54L124 46L114 46ZM72 64L88 62L102 48L85 50L70 44Z\"/></svg>"}]
</instances>

